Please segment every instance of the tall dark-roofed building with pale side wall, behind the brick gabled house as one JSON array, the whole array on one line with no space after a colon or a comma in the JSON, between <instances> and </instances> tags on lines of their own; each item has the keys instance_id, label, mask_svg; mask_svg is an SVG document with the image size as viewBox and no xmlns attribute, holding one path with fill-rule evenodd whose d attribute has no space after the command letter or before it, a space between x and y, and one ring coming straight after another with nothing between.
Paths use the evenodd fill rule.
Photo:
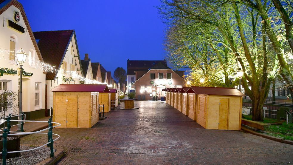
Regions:
<instances>
[{"instance_id":1,"label":"tall dark-roofed building with pale side wall, behind the brick gabled house","mask_svg":"<svg viewBox=\"0 0 293 165\"><path fill-rule=\"evenodd\" d=\"M156 64L162 63L167 66L166 60L127 60L127 92L135 90L134 82L137 80L134 71L147 72Z\"/></svg>"}]
</instances>

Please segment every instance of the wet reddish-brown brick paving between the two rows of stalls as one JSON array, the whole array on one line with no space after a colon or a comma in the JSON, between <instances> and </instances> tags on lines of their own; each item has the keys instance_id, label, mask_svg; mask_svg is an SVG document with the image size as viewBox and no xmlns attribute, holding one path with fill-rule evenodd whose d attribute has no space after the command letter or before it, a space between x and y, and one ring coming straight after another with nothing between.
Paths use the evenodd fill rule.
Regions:
<instances>
[{"instance_id":1,"label":"wet reddish-brown brick paving between the two rows of stalls","mask_svg":"<svg viewBox=\"0 0 293 165\"><path fill-rule=\"evenodd\" d=\"M160 101L135 104L140 108L111 110L92 128L55 128L61 138L54 145L67 152L58 164L293 164L292 145L207 130ZM46 138L28 135L21 143L43 144Z\"/></svg>"}]
</instances>

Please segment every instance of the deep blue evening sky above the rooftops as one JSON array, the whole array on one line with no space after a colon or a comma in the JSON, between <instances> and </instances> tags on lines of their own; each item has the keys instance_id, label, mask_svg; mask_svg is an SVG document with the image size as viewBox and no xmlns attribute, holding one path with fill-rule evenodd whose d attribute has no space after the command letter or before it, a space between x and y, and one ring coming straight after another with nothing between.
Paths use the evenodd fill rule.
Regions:
<instances>
[{"instance_id":1,"label":"deep blue evening sky above the rooftops","mask_svg":"<svg viewBox=\"0 0 293 165\"><path fill-rule=\"evenodd\" d=\"M89 53L112 75L126 61L163 60L159 0L19 0L32 31L74 29L80 58Z\"/></svg>"}]
</instances>

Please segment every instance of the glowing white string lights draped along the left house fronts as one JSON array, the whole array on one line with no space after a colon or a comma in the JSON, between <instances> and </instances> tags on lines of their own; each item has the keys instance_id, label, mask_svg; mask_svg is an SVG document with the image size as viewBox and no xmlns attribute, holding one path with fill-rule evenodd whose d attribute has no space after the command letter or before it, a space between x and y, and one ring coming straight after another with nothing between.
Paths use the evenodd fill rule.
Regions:
<instances>
[{"instance_id":1,"label":"glowing white string lights draped along the left house fronts","mask_svg":"<svg viewBox=\"0 0 293 165\"><path fill-rule=\"evenodd\" d=\"M15 53L14 50L10 51L8 49L0 49L0 53L1 54L3 53L2 58L4 60L9 59L10 52L12 52L13 54ZM8 58L5 58L5 53L7 53ZM27 58L28 58L29 61L31 61L30 65L32 67L34 67L36 69L43 69L44 72L57 74L60 71L62 74L66 75L66 76L70 76L70 77L75 78L75 79L79 79L79 81L83 81L86 84L104 84L104 85L107 85L108 87L112 87L112 84L107 84L106 82L101 83L101 82L99 82L97 80L91 80L91 79L85 78L85 77L83 77L81 75L78 75L78 73L76 71L65 71L63 69L58 70L58 69L55 68L55 66L52 66L52 65L50 65L48 63L40 61L37 58L32 58L32 57L29 57L29 56ZM0 57L0 59L1 59L1 57ZM15 60L13 60L13 61L15 61Z\"/></svg>"}]
</instances>

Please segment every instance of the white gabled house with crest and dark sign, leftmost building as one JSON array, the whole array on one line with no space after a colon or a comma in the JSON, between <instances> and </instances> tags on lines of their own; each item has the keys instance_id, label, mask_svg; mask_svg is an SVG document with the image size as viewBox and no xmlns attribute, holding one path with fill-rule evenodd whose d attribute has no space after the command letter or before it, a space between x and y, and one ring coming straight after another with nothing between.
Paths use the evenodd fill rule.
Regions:
<instances>
[{"instance_id":1,"label":"white gabled house with crest and dark sign, leftmost building","mask_svg":"<svg viewBox=\"0 0 293 165\"><path fill-rule=\"evenodd\" d=\"M22 77L22 111L26 113L28 120L45 117L46 83L41 65L43 58L24 9L16 0L0 1L0 18L0 68L2 68L0 69L0 93L4 90L18 93L19 65L16 64L15 52L23 48L27 53L23 69L29 74ZM7 73L7 70L10 71ZM15 114L15 110L12 111ZM5 115L8 113L11 113L11 110L7 110Z\"/></svg>"}]
</instances>

